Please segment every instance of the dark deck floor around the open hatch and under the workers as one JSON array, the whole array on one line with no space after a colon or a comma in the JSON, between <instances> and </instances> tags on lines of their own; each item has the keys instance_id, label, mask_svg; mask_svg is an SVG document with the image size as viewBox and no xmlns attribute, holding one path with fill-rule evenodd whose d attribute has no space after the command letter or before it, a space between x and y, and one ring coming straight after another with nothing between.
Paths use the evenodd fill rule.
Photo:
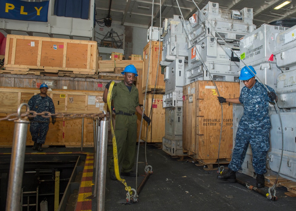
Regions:
<instances>
[{"instance_id":1,"label":"dark deck floor around the open hatch and under the workers","mask_svg":"<svg viewBox=\"0 0 296 211\"><path fill-rule=\"evenodd\" d=\"M137 146L138 147L138 146ZM112 146L107 147L107 162L112 155ZM137 148L136 148L137 150ZM11 148L1 148L2 153L10 153ZM26 147L26 153L34 152ZM79 147L49 147L43 152L80 152ZM93 152L93 148L85 147L83 152ZM289 197L285 187L276 188L278 200L273 202L262 195L247 189L238 183L218 181L217 171L204 170L192 161L172 158L166 152L154 145L147 145L147 162L152 166L153 174L139 194L139 202L130 205L120 204L126 199L125 186L119 181L112 181L106 174L105 210L252 210L252 211L278 211L295 210L296 197ZM126 179L127 185L137 189L145 176L145 144L140 145L138 183L131 177ZM134 166L136 170L136 165ZM237 173L237 179L256 185L256 180L245 174ZM264 190L268 192L268 188ZM83 210L96 210L96 199L92 199L92 208ZM86 207L85 207L86 208Z\"/></svg>"}]
</instances>

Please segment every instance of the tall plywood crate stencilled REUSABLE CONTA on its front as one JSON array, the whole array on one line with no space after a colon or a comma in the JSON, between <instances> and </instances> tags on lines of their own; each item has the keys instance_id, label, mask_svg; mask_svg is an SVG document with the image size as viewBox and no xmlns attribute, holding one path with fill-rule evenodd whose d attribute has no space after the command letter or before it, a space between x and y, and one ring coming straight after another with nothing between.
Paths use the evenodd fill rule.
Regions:
<instances>
[{"instance_id":1,"label":"tall plywood crate stencilled REUSABLE CONTA on its front","mask_svg":"<svg viewBox=\"0 0 296 211\"><path fill-rule=\"evenodd\" d=\"M238 82L215 81L221 96L239 97ZM212 81L196 81L183 87L183 149L197 160L215 163L221 131L221 103ZM223 128L219 158L231 158L232 103L223 103Z\"/></svg>"}]
</instances>

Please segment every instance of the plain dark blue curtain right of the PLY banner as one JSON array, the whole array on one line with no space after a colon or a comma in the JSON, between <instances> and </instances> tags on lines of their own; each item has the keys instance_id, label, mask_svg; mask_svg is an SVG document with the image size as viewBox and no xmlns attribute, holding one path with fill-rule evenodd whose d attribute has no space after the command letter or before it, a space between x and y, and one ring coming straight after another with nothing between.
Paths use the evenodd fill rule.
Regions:
<instances>
[{"instance_id":1,"label":"plain dark blue curtain right of the PLY banner","mask_svg":"<svg viewBox=\"0 0 296 211\"><path fill-rule=\"evenodd\" d=\"M90 0L55 0L54 15L89 19Z\"/></svg>"}]
</instances>

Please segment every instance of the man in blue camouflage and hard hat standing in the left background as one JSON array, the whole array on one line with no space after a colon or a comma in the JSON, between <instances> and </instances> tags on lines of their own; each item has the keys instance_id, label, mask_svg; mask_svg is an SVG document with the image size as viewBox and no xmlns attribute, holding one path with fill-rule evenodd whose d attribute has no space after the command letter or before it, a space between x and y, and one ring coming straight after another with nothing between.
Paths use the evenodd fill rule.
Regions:
<instances>
[{"instance_id":1,"label":"man in blue camouflage and hard hat standing in the left background","mask_svg":"<svg viewBox=\"0 0 296 211\"><path fill-rule=\"evenodd\" d=\"M46 84L40 85L40 94L34 95L28 102L31 111L41 113L43 111L49 111L55 113L54 103L52 98L47 96L48 86ZM46 134L49 128L49 119L42 116L36 116L30 119L30 133L32 141L34 142L33 150L38 149L39 152L43 151L42 145L45 142ZM52 116L52 124L56 122L56 118Z\"/></svg>"}]
</instances>

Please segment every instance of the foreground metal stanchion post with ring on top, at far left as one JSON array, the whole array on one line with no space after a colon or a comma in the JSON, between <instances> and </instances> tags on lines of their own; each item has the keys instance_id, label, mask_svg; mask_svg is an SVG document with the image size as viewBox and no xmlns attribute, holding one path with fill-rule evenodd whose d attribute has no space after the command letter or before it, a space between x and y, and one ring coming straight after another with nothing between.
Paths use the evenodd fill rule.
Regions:
<instances>
[{"instance_id":1,"label":"foreground metal stanchion post with ring on top, at far left","mask_svg":"<svg viewBox=\"0 0 296 211\"><path fill-rule=\"evenodd\" d=\"M21 119L20 110L22 106L27 106L27 111L30 110L28 104L20 104L17 113L18 118L15 120L15 130L13 134L12 152L9 168L8 190L6 200L6 211L20 210L21 208L21 189L22 175L24 170L25 147L27 140L27 130L29 121Z\"/></svg>"}]
</instances>

